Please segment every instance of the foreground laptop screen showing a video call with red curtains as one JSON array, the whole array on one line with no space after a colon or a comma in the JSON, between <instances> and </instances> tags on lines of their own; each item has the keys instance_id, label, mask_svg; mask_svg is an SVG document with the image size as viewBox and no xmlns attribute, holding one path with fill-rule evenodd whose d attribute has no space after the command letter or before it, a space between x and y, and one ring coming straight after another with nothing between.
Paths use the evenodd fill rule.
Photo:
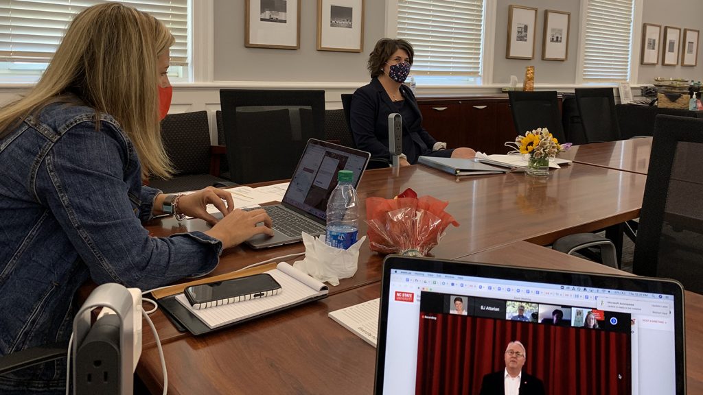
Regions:
<instances>
[{"instance_id":1,"label":"foreground laptop screen showing a video call with red curtains","mask_svg":"<svg viewBox=\"0 0 703 395\"><path fill-rule=\"evenodd\" d=\"M508 367L520 393L685 389L668 280L389 257L378 335L377 394L502 394Z\"/></svg>"}]
</instances>

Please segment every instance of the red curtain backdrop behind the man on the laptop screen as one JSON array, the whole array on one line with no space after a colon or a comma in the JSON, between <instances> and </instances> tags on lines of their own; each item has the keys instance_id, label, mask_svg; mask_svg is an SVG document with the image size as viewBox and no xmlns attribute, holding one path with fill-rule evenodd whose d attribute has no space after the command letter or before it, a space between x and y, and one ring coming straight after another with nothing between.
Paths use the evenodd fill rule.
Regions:
<instances>
[{"instance_id":1,"label":"red curtain backdrop behind the man on the laptop screen","mask_svg":"<svg viewBox=\"0 0 703 395\"><path fill-rule=\"evenodd\" d=\"M505 368L513 340L527 349L522 371L548 395L631 394L626 333L453 314L420 317L415 393L478 394L484 375Z\"/></svg>"}]
</instances>

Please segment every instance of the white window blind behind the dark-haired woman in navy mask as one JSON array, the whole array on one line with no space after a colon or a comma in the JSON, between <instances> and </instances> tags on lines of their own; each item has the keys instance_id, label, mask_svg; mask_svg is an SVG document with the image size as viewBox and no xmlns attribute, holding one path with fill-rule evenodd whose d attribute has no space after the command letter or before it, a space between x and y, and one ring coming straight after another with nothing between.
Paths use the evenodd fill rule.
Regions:
<instances>
[{"instance_id":1,"label":"white window blind behind the dark-haired woman in navy mask","mask_svg":"<svg viewBox=\"0 0 703 395\"><path fill-rule=\"evenodd\" d=\"M399 0L398 37L413 44L415 75L479 75L483 0Z\"/></svg>"}]
</instances>

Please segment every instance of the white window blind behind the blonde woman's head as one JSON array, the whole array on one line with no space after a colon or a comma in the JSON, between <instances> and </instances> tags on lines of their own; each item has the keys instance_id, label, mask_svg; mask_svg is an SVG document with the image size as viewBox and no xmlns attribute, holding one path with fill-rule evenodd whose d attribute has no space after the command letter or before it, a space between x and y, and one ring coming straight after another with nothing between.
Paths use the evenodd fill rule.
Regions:
<instances>
[{"instance_id":1,"label":"white window blind behind the blonde woman's head","mask_svg":"<svg viewBox=\"0 0 703 395\"><path fill-rule=\"evenodd\" d=\"M188 0L120 1L171 30L171 65L188 65ZM49 63L73 17L100 0L0 1L0 62Z\"/></svg>"}]
</instances>

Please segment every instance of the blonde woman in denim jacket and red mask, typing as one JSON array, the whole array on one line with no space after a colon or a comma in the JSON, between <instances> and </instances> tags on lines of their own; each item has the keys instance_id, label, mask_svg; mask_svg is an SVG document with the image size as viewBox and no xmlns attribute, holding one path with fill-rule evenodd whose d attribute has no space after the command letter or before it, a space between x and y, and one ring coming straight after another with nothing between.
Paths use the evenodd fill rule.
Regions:
<instances>
[{"instance_id":1,"label":"blonde woman in denim jacket and red mask, typing","mask_svg":"<svg viewBox=\"0 0 703 395\"><path fill-rule=\"evenodd\" d=\"M162 214L166 197L141 180L171 172L159 122L170 103L173 42L134 8L87 8L34 89L1 108L1 355L67 341L86 280L147 290L205 275L224 248L272 234L263 210L234 209L215 188L176 204L179 214L213 224L209 231L153 238L141 225ZM219 222L208 203L225 214ZM64 386L65 360L0 377L2 394Z\"/></svg>"}]
</instances>

